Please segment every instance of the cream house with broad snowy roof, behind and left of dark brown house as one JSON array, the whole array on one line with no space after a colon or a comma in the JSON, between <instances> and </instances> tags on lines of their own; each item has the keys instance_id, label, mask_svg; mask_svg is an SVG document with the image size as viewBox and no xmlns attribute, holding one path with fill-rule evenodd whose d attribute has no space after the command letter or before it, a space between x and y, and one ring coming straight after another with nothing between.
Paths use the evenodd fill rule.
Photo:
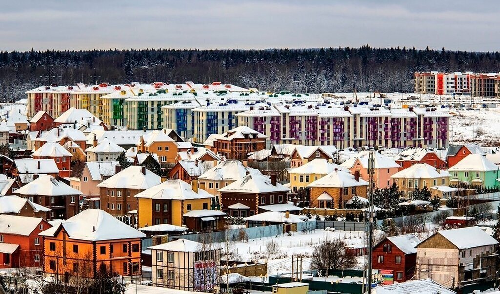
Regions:
<instances>
[{"instance_id":1,"label":"cream house with broad snowy roof, behind and left of dark brown house","mask_svg":"<svg viewBox=\"0 0 500 294\"><path fill-rule=\"evenodd\" d=\"M217 160L214 160L216 163ZM246 166L246 161L241 162L236 159L221 161L212 168L198 176L200 189L208 193L219 196L218 189L238 180L250 172L252 168Z\"/></svg>"}]
</instances>

